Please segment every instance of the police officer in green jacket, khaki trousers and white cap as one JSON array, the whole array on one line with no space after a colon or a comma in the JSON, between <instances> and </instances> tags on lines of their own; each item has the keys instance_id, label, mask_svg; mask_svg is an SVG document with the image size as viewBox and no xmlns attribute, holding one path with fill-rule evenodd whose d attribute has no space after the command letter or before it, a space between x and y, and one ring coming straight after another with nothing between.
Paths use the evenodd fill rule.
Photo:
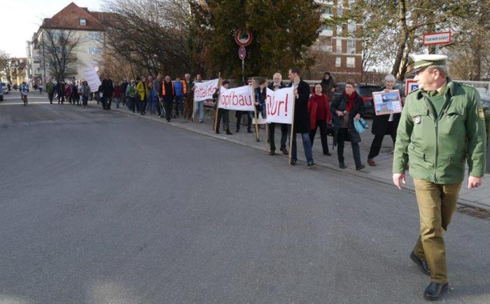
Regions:
<instances>
[{"instance_id":1,"label":"police officer in green jacket, khaki trousers and white cap","mask_svg":"<svg viewBox=\"0 0 490 304\"><path fill-rule=\"evenodd\" d=\"M447 290L443 233L456 208L468 162L468 189L482 184L486 132L482 102L473 87L447 75L447 56L414 56L419 89L410 93L398 126L393 183L401 189L405 166L414 178L420 236L410 254L430 284L423 293L437 300Z\"/></svg>"}]
</instances>

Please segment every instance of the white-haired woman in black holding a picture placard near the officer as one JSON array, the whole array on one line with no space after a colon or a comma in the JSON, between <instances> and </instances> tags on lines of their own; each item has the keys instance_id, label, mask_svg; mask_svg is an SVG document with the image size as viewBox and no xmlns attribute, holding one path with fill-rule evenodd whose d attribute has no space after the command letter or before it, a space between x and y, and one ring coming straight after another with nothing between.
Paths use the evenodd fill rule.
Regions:
<instances>
[{"instance_id":1,"label":"white-haired woman in black holding a picture placard near the officer","mask_svg":"<svg viewBox=\"0 0 490 304\"><path fill-rule=\"evenodd\" d=\"M388 92L393 89L395 85L395 76L386 75L384 78L384 91ZM371 133L374 134L374 138L371 143L369 154L367 155L367 164L370 166L376 166L374 157L377 157L379 150L381 150L381 144L385 135L391 136L393 140L393 146L396 141L396 129L398 129L398 122L400 122L400 113L390 115L376 115L372 120Z\"/></svg>"}]
</instances>

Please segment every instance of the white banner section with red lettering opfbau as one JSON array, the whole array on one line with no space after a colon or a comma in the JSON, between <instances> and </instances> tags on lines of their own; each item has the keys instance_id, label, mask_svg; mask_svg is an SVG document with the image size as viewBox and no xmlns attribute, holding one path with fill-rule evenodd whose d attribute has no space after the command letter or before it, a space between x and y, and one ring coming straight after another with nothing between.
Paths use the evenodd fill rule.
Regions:
<instances>
[{"instance_id":1,"label":"white banner section with red lettering opfbau","mask_svg":"<svg viewBox=\"0 0 490 304\"><path fill-rule=\"evenodd\" d=\"M251 86L220 89L219 108L237 111L253 111L253 89Z\"/></svg>"}]
</instances>

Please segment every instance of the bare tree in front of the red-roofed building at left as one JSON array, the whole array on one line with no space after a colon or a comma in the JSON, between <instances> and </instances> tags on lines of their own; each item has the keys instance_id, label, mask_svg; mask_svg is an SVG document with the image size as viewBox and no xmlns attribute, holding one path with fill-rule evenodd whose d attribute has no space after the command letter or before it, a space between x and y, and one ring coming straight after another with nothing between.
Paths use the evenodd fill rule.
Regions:
<instances>
[{"instance_id":1,"label":"bare tree in front of the red-roofed building at left","mask_svg":"<svg viewBox=\"0 0 490 304\"><path fill-rule=\"evenodd\" d=\"M41 33L41 50L45 53L45 65L50 75L64 80L76 73L78 59L74 49L82 38L69 29L45 29Z\"/></svg>"}]
</instances>

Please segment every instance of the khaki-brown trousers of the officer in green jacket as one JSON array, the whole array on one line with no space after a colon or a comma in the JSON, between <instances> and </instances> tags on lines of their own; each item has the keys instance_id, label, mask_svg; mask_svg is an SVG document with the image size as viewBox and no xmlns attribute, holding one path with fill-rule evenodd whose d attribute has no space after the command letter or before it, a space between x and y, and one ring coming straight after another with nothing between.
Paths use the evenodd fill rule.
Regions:
<instances>
[{"instance_id":1,"label":"khaki-brown trousers of the officer in green jacket","mask_svg":"<svg viewBox=\"0 0 490 304\"><path fill-rule=\"evenodd\" d=\"M414 252L420 259L427 261L431 282L446 283L447 264L443 233L454 214L462 182L434 184L414 179L414 184L420 215L420 236Z\"/></svg>"}]
</instances>

